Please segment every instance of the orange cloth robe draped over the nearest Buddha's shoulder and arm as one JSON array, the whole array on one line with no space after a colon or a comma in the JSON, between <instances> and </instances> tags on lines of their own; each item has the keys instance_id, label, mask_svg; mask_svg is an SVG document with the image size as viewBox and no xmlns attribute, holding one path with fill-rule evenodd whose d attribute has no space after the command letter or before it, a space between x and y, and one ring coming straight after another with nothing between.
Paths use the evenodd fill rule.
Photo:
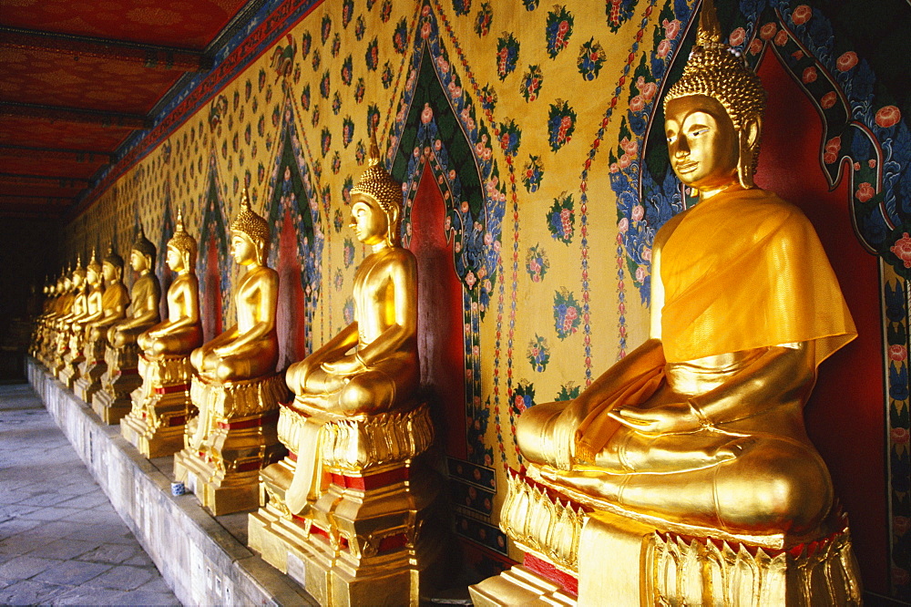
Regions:
<instances>
[{"instance_id":1,"label":"orange cloth robe draped over the nearest Buddha's shoulder and arm","mask_svg":"<svg viewBox=\"0 0 911 607\"><path fill-rule=\"evenodd\" d=\"M645 402L667 364L812 341L818 366L857 335L813 226L773 192L722 192L666 229L661 347L579 424L577 460L593 461L618 427L606 414Z\"/></svg>"}]
</instances>

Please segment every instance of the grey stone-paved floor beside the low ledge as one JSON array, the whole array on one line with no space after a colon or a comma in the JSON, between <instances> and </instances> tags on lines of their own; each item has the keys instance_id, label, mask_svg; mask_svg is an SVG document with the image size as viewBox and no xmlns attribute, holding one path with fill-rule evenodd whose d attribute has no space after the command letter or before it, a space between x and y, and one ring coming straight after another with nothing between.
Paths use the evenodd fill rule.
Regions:
<instances>
[{"instance_id":1,"label":"grey stone-paved floor beside the low ledge","mask_svg":"<svg viewBox=\"0 0 911 607\"><path fill-rule=\"evenodd\" d=\"M0 604L179 605L27 384L0 386Z\"/></svg>"}]
</instances>

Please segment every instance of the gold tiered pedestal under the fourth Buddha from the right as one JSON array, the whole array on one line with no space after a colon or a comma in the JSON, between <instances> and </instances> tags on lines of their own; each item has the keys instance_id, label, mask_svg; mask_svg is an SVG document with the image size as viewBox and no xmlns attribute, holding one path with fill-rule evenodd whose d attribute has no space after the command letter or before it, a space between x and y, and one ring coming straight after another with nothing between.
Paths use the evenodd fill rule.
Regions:
<instances>
[{"instance_id":1,"label":"gold tiered pedestal under the fourth Buddha from the right","mask_svg":"<svg viewBox=\"0 0 911 607\"><path fill-rule=\"evenodd\" d=\"M120 420L120 433L147 458L174 455L183 448L187 420L196 415L189 356L140 354L138 368L142 386L131 395L133 408Z\"/></svg>"}]
</instances>

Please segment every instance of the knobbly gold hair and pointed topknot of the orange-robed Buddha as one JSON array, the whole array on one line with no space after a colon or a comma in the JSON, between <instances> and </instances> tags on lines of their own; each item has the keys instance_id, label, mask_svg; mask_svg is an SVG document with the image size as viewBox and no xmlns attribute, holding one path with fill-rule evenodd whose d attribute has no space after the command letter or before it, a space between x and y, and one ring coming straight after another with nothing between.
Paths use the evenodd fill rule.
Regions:
<instances>
[{"instance_id":1,"label":"knobbly gold hair and pointed topknot of the orange-robed Buddha","mask_svg":"<svg viewBox=\"0 0 911 607\"><path fill-rule=\"evenodd\" d=\"M705 95L717 99L727 111L734 129L742 129L749 118L762 118L765 90L759 77L742 57L722 39L722 28L711 0L703 0L699 31L683 75L664 96L664 108L671 99ZM756 158L758 154L754 154Z\"/></svg>"}]
</instances>

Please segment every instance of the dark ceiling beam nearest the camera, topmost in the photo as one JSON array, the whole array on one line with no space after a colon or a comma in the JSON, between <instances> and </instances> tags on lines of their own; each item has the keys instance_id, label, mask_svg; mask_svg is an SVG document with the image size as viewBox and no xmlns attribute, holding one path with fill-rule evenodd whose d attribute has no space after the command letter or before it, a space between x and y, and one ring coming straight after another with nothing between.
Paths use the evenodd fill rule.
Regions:
<instances>
[{"instance_id":1,"label":"dark ceiling beam nearest the camera, topmost in the photo","mask_svg":"<svg viewBox=\"0 0 911 607\"><path fill-rule=\"evenodd\" d=\"M0 48L60 53L72 57L98 57L149 69L204 72L212 59L199 51L172 46L146 45L94 36L73 36L19 27L0 26Z\"/></svg>"}]
</instances>

